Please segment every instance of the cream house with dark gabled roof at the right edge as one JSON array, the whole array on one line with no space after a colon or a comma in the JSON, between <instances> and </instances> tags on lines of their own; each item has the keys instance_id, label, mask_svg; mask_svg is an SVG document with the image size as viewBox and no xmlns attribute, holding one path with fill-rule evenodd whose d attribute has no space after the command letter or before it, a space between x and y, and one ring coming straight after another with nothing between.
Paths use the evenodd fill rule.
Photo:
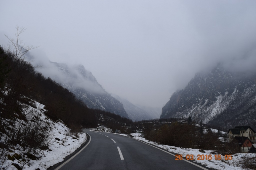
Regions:
<instances>
[{"instance_id":1,"label":"cream house with dark gabled roof at the right edge","mask_svg":"<svg viewBox=\"0 0 256 170\"><path fill-rule=\"evenodd\" d=\"M236 126L233 129L228 130L229 142L231 142L236 136L248 137L251 142L256 143L256 131L254 131L250 126Z\"/></svg>"}]
</instances>

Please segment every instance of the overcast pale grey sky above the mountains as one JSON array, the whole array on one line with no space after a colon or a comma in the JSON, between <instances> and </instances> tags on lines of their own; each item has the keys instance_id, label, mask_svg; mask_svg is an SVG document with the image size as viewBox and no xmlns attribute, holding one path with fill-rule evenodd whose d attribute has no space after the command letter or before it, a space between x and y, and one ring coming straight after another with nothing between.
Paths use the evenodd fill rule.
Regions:
<instances>
[{"instance_id":1,"label":"overcast pale grey sky above the mountains","mask_svg":"<svg viewBox=\"0 0 256 170\"><path fill-rule=\"evenodd\" d=\"M21 38L40 46L34 53L83 64L107 92L134 104L162 107L222 60L256 67L255 0L1 0L0 16L1 45L16 25L26 27Z\"/></svg>"}]
</instances>

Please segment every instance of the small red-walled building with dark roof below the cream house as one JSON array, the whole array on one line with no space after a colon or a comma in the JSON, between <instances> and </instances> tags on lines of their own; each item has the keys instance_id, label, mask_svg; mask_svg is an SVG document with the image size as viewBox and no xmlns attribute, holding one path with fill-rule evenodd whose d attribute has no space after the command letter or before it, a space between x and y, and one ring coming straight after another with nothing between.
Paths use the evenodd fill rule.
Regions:
<instances>
[{"instance_id":1,"label":"small red-walled building with dark roof below the cream house","mask_svg":"<svg viewBox=\"0 0 256 170\"><path fill-rule=\"evenodd\" d=\"M236 136L231 143L239 145L241 152L248 152L252 147L252 141L248 137Z\"/></svg>"}]
</instances>

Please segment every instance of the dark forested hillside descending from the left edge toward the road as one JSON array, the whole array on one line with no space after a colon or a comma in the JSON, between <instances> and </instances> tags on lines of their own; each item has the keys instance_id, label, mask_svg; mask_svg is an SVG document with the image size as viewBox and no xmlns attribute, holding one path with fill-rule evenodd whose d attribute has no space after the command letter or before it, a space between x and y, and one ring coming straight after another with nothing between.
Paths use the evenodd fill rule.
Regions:
<instances>
[{"instance_id":1,"label":"dark forested hillside descending from the left edge toward the road","mask_svg":"<svg viewBox=\"0 0 256 170\"><path fill-rule=\"evenodd\" d=\"M33 106L32 100L45 105L45 114L53 120L60 119L74 130L96 127L97 114L109 112L90 109L76 96L53 81L36 72L24 56L4 51L0 46L0 127L6 118L22 119L22 104ZM113 117L113 116L112 116ZM123 120L116 115L117 119ZM119 118L120 117L120 118ZM4 129L3 129L4 131Z\"/></svg>"}]
</instances>

